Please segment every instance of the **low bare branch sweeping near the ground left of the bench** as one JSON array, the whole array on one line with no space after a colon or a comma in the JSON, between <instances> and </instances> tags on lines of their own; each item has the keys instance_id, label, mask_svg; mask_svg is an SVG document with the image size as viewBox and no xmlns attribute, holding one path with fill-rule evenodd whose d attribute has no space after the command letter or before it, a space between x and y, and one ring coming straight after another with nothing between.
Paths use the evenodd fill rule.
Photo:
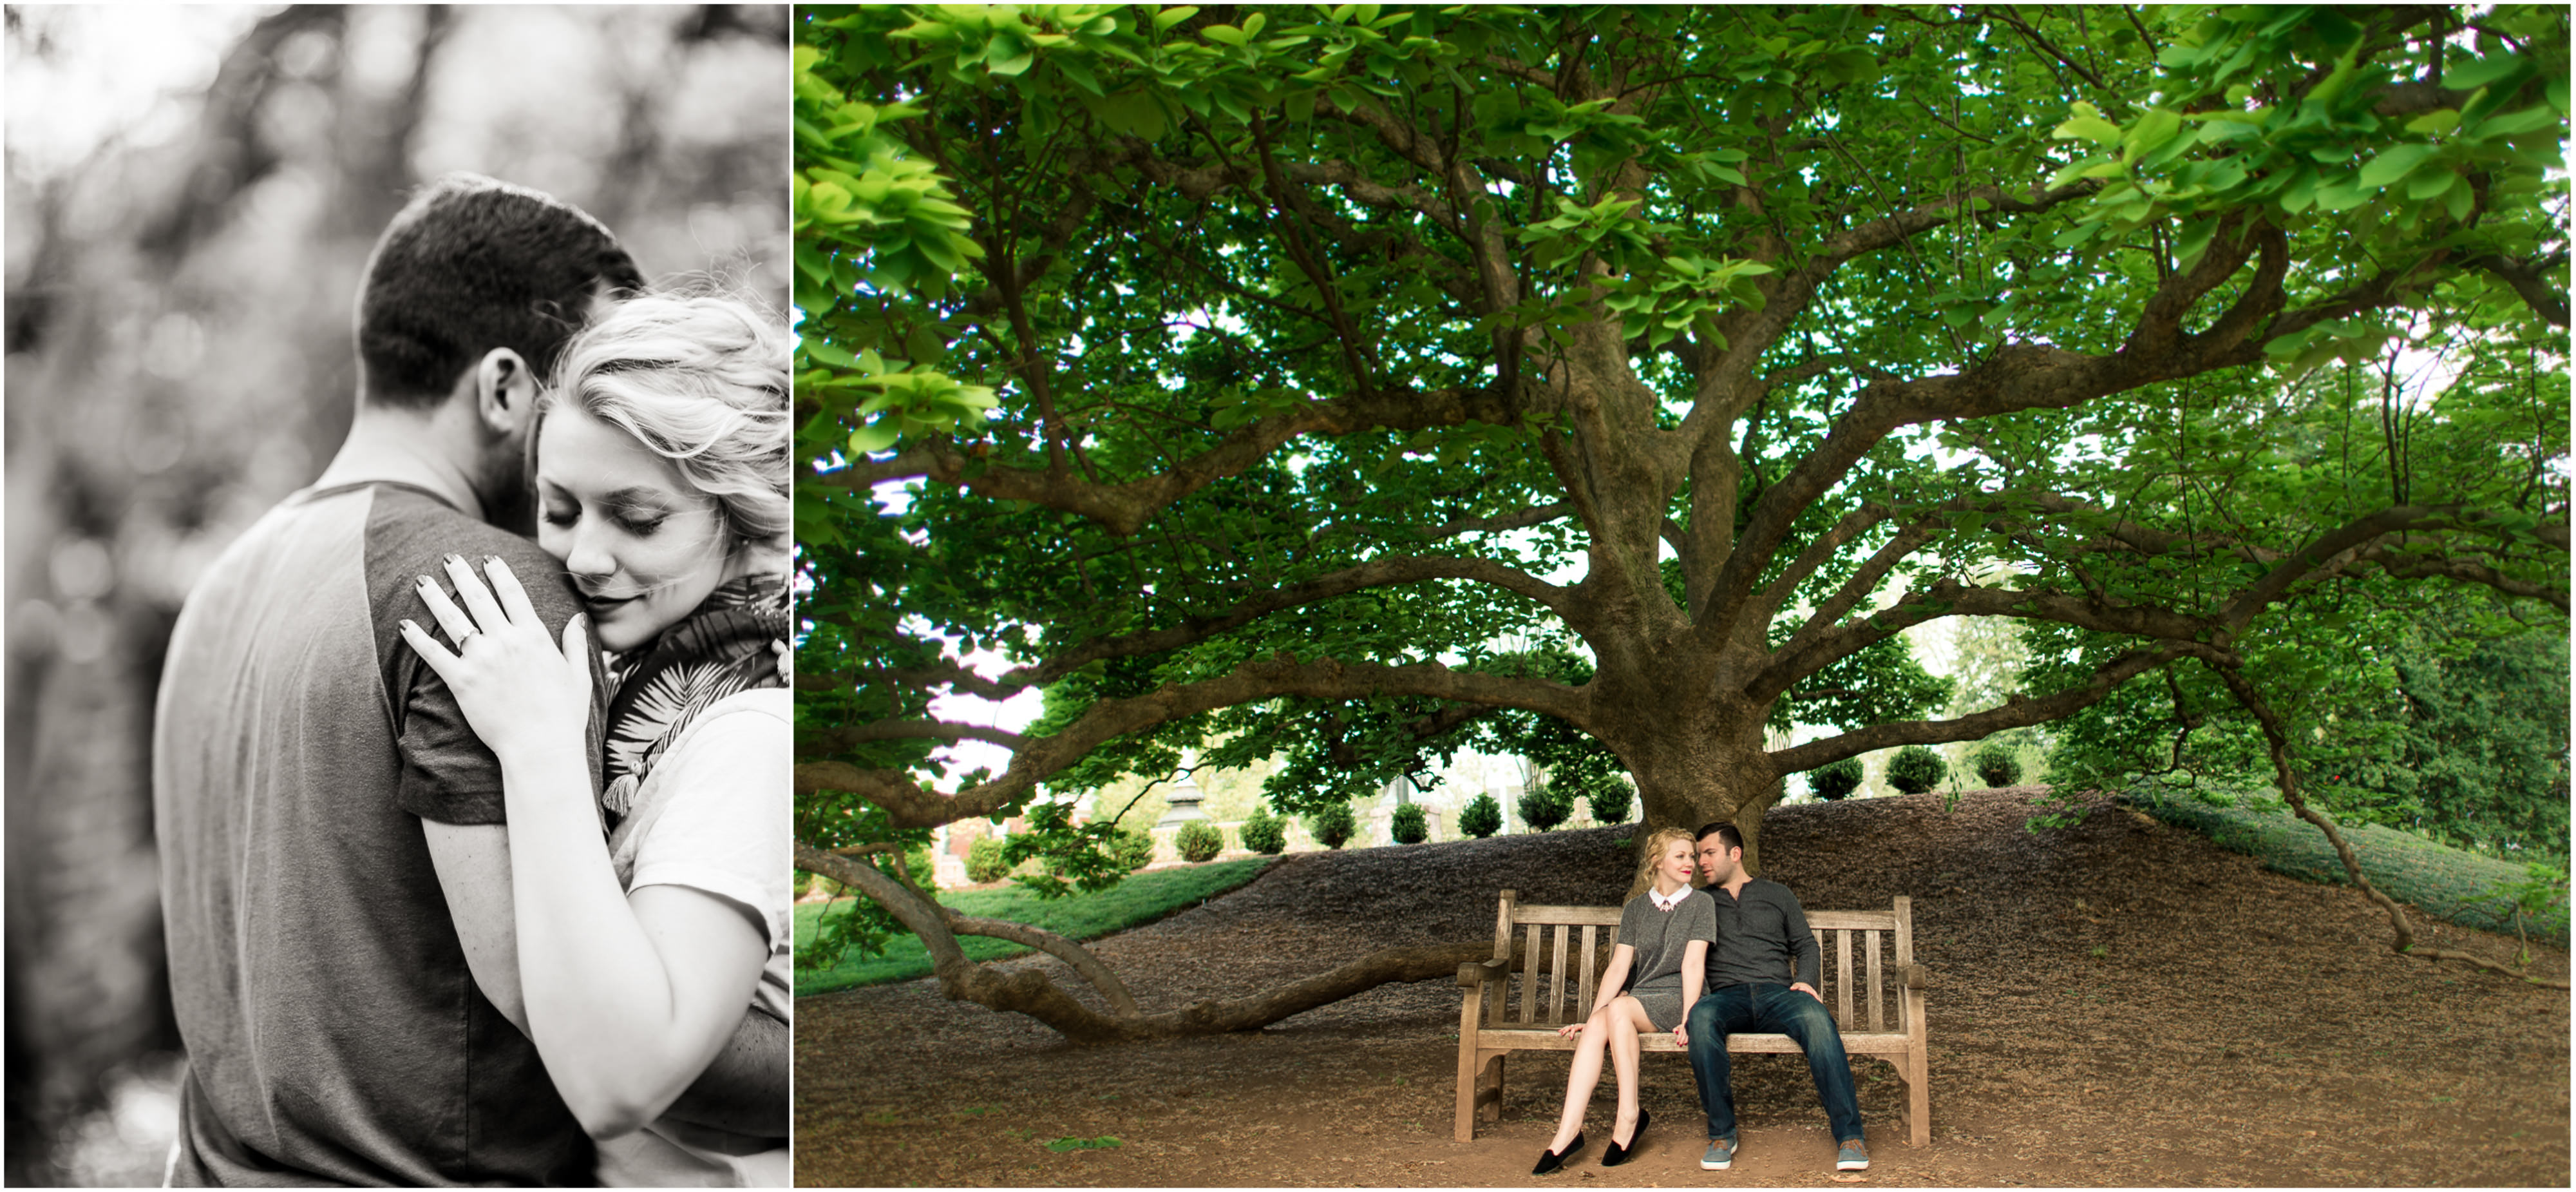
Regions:
<instances>
[{"instance_id":1,"label":"low bare branch sweeping near the ground left of the bench","mask_svg":"<svg viewBox=\"0 0 2576 1192\"><path fill-rule=\"evenodd\" d=\"M796 867L824 875L873 898L878 906L891 911L894 919L909 926L912 934L922 937L922 947L930 949L930 970L940 978L940 993L948 998L974 1001L1010 1014L1028 1014L1074 1042L1133 1042L1260 1029L1291 1014L1329 1006L1394 980L1455 978L1458 965L1489 960L1494 949L1494 944L1484 942L1386 947L1329 973L1291 980L1249 998L1208 998L1162 1014L1144 1014L1136 1009L1136 998L1128 993L1126 983L1121 983L1118 975L1100 962L1100 957L1054 931L1007 924L999 919L961 916L933 903L873 864L829 854L801 841L796 844ZM1110 1004L1110 1011L1103 1014L1084 1006L1072 993L1056 988L1046 973L1033 968L999 973L989 965L966 960L966 949L958 947L956 937L1010 939L1064 960L1066 965L1074 965L1074 973L1079 973L1082 980L1100 991L1100 996Z\"/></svg>"}]
</instances>

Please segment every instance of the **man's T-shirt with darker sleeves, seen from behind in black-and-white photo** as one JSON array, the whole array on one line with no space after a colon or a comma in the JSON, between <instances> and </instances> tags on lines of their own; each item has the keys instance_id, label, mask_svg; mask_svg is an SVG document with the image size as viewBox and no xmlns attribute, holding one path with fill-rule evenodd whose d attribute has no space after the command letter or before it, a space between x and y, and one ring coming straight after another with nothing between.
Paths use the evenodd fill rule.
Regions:
<instances>
[{"instance_id":1,"label":"man's T-shirt with darker sleeves, seen from behind in black-and-white photo","mask_svg":"<svg viewBox=\"0 0 2576 1192\"><path fill-rule=\"evenodd\" d=\"M191 1071L178 1184L587 1184L590 1140L474 986L422 818L500 774L392 624L440 552L554 575L402 485L289 498L170 637L152 802ZM572 611L531 583L549 622Z\"/></svg>"}]
</instances>

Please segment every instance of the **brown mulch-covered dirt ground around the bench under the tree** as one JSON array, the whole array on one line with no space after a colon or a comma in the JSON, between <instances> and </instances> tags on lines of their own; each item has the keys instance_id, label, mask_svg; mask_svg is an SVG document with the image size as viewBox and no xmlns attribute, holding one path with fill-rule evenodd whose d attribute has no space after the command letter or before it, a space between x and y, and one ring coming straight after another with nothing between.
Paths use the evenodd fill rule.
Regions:
<instances>
[{"instance_id":1,"label":"brown mulch-covered dirt ground around the bench under the tree","mask_svg":"<svg viewBox=\"0 0 2576 1192\"><path fill-rule=\"evenodd\" d=\"M1808 908L1914 898L1929 993L1932 1143L1855 1060L1870 1184L2568 1187L2568 993L2391 955L2357 893L2262 872L2102 805L2022 828L2030 790L1783 808L1767 877ZM1492 939L1494 893L1613 903L1618 828L1288 857L1252 885L1097 942L1144 1009L1242 996L1383 944ZM2419 939L2509 957L2429 924ZM1056 960L1066 988L1090 991ZM2543 949L2535 970L2566 978ZM1515 1055L1499 1125L1450 1140L1458 988L1383 986L1262 1032L1074 1048L933 980L796 1004L799 1184L1533 1184L1564 1055ZM1700 1171L1680 1055L1646 1055L1636 1161L1589 1143L1548 1184L1832 1184L1798 1055L1739 1055L1744 1151ZM1061 1138L1118 1146L1048 1151ZM1855 1182L1844 1177L1844 1182Z\"/></svg>"}]
</instances>

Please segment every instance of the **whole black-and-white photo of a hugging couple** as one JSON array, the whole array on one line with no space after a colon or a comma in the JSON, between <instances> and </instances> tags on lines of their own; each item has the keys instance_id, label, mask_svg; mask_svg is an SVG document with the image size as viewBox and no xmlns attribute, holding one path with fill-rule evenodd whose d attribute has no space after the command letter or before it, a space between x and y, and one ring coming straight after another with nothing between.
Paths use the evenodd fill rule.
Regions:
<instances>
[{"instance_id":1,"label":"whole black-and-white photo of a hugging couple","mask_svg":"<svg viewBox=\"0 0 2576 1192\"><path fill-rule=\"evenodd\" d=\"M786 8L8 8L8 1179L783 1187Z\"/></svg>"}]
</instances>

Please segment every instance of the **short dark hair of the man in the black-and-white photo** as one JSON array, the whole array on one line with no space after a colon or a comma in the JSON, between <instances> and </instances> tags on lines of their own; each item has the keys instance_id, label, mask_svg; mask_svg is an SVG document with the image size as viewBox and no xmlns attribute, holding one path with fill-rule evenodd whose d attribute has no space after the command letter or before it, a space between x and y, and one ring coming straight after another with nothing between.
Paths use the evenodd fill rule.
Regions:
<instances>
[{"instance_id":1,"label":"short dark hair of the man in the black-and-white photo","mask_svg":"<svg viewBox=\"0 0 2576 1192\"><path fill-rule=\"evenodd\" d=\"M641 292L618 237L523 186L451 173L386 224L358 284L358 392L433 408L492 348L546 377L600 292Z\"/></svg>"}]
</instances>

